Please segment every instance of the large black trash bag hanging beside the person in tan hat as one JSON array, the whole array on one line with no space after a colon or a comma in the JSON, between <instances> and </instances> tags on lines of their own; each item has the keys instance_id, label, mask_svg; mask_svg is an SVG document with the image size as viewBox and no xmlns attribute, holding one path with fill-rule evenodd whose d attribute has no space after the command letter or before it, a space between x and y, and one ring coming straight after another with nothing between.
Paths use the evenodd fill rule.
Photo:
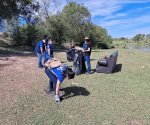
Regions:
<instances>
[{"instance_id":1,"label":"large black trash bag hanging beside the person in tan hat","mask_svg":"<svg viewBox=\"0 0 150 125\"><path fill-rule=\"evenodd\" d=\"M74 72L76 75L80 75L86 72L85 60L83 53L81 51L77 51L73 60Z\"/></svg>"}]
</instances>

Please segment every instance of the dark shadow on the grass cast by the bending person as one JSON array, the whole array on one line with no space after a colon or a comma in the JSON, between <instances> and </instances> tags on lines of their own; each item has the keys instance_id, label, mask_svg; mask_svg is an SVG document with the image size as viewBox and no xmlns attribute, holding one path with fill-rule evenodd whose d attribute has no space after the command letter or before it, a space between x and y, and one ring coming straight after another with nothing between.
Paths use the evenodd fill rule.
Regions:
<instances>
[{"instance_id":1,"label":"dark shadow on the grass cast by the bending person","mask_svg":"<svg viewBox=\"0 0 150 125\"><path fill-rule=\"evenodd\" d=\"M74 96L88 96L90 95L90 92L83 87L78 86L71 86L63 88L64 95L61 96L62 99L71 98Z\"/></svg>"}]
</instances>

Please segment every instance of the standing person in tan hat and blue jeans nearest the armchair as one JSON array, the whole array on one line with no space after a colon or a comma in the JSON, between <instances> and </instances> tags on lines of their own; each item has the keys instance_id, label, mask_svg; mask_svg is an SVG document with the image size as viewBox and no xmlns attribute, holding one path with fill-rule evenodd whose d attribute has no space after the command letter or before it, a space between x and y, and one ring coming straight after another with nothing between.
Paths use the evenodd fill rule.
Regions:
<instances>
[{"instance_id":1,"label":"standing person in tan hat and blue jeans nearest the armchair","mask_svg":"<svg viewBox=\"0 0 150 125\"><path fill-rule=\"evenodd\" d=\"M87 74L90 74L91 73L91 63L90 63L91 42L88 36L85 37L85 41L83 44L83 53L84 53L84 59L87 65Z\"/></svg>"}]
</instances>

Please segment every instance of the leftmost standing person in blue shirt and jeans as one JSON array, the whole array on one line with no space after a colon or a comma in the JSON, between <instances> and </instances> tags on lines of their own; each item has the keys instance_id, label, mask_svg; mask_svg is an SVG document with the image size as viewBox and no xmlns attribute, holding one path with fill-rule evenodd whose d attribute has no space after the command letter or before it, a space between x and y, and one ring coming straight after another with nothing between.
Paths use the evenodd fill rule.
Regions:
<instances>
[{"instance_id":1,"label":"leftmost standing person in blue shirt and jeans","mask_svg":"<svg viewBox=\"0 0 150 125\"><path fill-rule=\"evenodd\" d=\"M45 50L45 43L46 43L47 35L43 36L43 39L37 42L36 47L35 47L35 52L38 57L38 68L43 68L42 65L42 57L44 55L44 50Z\"/></svg>"}]
</instances>

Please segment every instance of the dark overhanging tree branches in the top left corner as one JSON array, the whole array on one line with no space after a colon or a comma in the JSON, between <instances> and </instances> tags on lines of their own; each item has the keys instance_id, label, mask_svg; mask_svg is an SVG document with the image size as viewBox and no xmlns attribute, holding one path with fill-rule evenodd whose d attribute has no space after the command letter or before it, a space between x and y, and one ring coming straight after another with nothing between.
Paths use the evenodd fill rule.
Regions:
<instances>
[{"instance_id":1,"label":"dark overhanging tree branches in the top left corner","mask_svg":"<svg viewBox=\"0 0 150 125\"><path fill-rule=\"evenodd\" d=\"M39 3L32 0L2 0L0 2L0 23L19 16L31 22L34 12L39 9Z\"/></svg>"}]
</instances>

